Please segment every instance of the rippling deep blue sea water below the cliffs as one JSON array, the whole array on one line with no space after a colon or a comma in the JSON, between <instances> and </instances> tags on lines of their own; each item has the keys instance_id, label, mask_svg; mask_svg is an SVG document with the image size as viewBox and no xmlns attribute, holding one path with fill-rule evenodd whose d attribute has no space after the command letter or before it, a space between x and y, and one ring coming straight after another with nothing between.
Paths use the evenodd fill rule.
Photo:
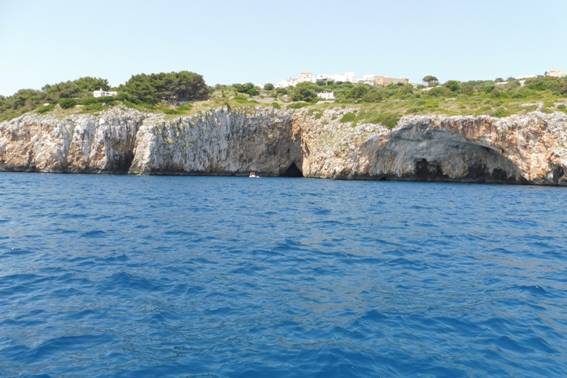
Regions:
<instances>
[{"instance_id":1,"label":"rippling deep blue sea water below the cliffs","mask_svg":"<svg viewBox=\"0 0 567 378\"><path fill-rule=\"evenodd\" d=\"M567 376L567 189L0 174L0 376Z\"/></svg>"}]
</instances>

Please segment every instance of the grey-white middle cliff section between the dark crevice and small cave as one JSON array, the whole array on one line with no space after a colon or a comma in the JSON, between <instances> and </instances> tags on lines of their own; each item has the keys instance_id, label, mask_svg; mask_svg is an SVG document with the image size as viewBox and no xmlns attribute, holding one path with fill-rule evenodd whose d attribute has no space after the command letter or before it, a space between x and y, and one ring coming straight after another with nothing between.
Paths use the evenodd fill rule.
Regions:
<instances>
[{"instance_id":1,"label":"grey-white middle cliff section between the dark crevice and small cave","mask_svg":"<svg viewBox=\"0 0 567 378\"><path fill-rule=\"evenodd\" d=\"M278 176L301 156L291 114L219 109L199 117L148 117L134 149L132 173Z\"/></svg>"}]
</instances>

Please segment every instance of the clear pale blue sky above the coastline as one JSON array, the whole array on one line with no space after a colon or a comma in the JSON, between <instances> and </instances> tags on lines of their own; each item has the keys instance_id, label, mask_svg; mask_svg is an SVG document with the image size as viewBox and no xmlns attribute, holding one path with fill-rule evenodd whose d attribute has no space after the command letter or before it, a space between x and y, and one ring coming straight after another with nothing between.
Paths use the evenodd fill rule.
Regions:
<instances>
[{"instance_id":1,"label":"clear pale blue sky above the coastline","mask_svg":"<svg viewBox=\"0 0 567 378\"><path fill-rule=\"evenodd\" d=\"M0 94L90 75L419 81L567 70L567 0L0 0Z\"/></svg>"}]
</instances>

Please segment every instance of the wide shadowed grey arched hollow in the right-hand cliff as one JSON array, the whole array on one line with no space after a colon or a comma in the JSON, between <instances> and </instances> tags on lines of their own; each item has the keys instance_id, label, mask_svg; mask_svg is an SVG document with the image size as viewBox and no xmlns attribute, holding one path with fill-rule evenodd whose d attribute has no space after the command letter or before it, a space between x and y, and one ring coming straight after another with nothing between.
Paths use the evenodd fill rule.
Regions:
<instances>
[{"instance_id":1,"label":"wide shadowed grey arched hollow in the right-hand cliff","mask_svg":"<svg viewBox=\"0 0 567 378\"><path fill-rule=\"evenodd\" d=\"M446 130L409 126L386 142L367 142L363 150L372 179L527 183L518 166L496 149Z\"/></svg>"}]
</instances>

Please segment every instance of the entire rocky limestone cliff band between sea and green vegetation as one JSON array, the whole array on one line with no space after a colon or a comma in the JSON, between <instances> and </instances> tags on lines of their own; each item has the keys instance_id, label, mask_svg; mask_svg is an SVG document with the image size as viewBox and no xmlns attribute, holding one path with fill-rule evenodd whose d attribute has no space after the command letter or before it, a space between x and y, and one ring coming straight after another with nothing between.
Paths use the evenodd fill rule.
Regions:
<instances>
[{"instance_id":1,"label":"entire rocky limestone cliff band between sea and green vegetation","mask_svg":"<svg viewBox=\"0 0 567 378\"><path fill-rule=\"evenodd\" d=\"M0 123L0 170L567 185L562 113L414 116L389 130L342 123L346 111L29 113Z\"/></svg>"}]
</instances>

